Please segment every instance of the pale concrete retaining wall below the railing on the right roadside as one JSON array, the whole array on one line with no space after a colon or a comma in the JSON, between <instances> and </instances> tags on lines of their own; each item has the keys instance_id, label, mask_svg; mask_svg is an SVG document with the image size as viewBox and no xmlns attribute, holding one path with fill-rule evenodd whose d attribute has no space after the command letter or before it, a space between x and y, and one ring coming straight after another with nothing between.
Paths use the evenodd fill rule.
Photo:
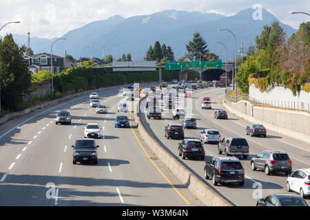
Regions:
<instances>
[{"instance_id":1,"label":"pale concrete retaining wall below the railing on the right roadside","mask_svg":"<svg viewBox=\"0 0 310 220\"><path fill-rule=\"evenodd\" d=\"M245 100L234 103L224 98L223 104L228 111L240 118L254 124L263 124L268 130L310 143L310 113L257 107Z\"/></svg>"}]
</instances>

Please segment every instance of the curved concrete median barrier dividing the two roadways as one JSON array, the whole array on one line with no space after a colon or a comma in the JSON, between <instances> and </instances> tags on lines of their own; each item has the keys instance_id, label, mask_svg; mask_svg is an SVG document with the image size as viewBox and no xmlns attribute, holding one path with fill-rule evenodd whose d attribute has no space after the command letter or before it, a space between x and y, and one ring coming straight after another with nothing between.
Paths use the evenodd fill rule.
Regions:
<instances>
[{"instance_id":1,"label":"curved concrete median barrier dividing the two roadways","mask_svg":"<svg viewBox=\"0 0 310 220\"><path fill-rule=\"evenodd\" d=\"M161 159L161 162L163 162L163 164L165 164L165 166L167 166L167 168L169 168L169 170L172 171L172 173L176 175L176 177L178 177L178 179L180 179L205 206L232 206L225 197L221 196L214 189L198 179L194 173L187 170L177 159L172 157L161 144L158 144L158 142L145 131L136 111L134 113L134 122L135 124L133 125L137 126L138 133L141 135L143 141L153 151L156 157Z\"/></svg>"}]
</instances>

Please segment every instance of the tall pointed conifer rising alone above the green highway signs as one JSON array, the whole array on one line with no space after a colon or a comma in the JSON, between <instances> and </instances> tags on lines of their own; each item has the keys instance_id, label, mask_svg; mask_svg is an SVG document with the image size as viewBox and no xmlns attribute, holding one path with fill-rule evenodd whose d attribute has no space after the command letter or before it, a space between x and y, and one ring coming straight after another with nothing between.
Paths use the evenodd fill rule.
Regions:
<instances>
[{"instance_id":1,"label":"tall pointed conifer rising alone above the green highway signs","mask_svg":"<svg viewBox=\"0 0 310 220\"><path fill-rule=\"evenodd\" d=\"M199 59L201 55L201 58L203 59L205 54L209 52L207 46L208 45L203 39L203 36L200 36L198 32L195 32L193 40L189 41L188 45L186 45L189 58L195 57L196 59Z\"/></svg>"}]
</instances>

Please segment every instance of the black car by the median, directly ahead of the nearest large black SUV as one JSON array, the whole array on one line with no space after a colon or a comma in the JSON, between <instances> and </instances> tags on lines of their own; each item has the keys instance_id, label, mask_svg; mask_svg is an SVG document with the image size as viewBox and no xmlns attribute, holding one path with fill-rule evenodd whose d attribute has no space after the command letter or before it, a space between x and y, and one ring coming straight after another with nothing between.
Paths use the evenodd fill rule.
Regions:
<instances>
[{"instance_id":1,"label":"black car by the median, directly ahead of the nearest large black SUV","mask_svg":"<svg viewBox=\"0 0 310 220\"><path fill-rule=\"evenodd\" d=\"M182 156L182 159L195 157L205 159L205 148L197 139L185 139L178 144L178 155Z\"/></svg>"}]
</instances>

